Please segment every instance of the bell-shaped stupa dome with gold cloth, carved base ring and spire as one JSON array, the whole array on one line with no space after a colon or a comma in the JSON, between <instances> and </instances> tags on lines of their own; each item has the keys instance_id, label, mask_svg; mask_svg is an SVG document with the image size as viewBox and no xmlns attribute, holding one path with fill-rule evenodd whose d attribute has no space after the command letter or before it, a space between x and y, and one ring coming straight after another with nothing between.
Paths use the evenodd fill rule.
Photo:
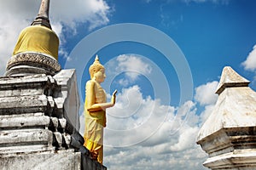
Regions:
<instances>
[{"instance_id":1,"label":"bell-shaped stupa dome with gold cloth, carved base ring and spire","mask_svg":"<svg viewBox=\"0 0 256 170\"><path fill-rule=\"evenodd\" d=\"M58 63L59 43L59 37L49 24L49 0L42 0L36 19L20 32L5 75L55 75L61 71Z\"/></svg>"}]
</instances>

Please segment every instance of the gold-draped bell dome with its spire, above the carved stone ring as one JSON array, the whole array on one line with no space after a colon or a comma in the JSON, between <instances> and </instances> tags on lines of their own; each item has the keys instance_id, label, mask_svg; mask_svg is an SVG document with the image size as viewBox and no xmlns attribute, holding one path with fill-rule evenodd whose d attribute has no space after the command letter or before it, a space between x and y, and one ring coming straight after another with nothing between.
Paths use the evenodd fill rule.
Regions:
<instances>
[{"instance_id":1,"label":"gold-draped bell dome with its spire, above the carved stone ring","mask_svg":"<svg viewBox=\"0 0 256 170\"><path fill-rule=\"evenodd\" d=\"M20 32L13 55L41 53L58 59L59 38L49 24L49 0L42 0L37 18L32 26Z\"/></svg>"}]
</instances>

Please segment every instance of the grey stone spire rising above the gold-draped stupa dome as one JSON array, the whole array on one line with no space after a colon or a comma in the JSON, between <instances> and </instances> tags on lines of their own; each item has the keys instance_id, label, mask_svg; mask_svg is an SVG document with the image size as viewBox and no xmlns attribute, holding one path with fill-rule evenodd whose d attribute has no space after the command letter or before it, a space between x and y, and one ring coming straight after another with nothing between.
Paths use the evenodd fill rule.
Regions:
<instances>
[{"instance_id":1,"label":"grey stone spire rising above the gold-draped stupa dome","mask_svg":"<svg viewBox=\"0 0 256 170\"><path fill-rule=\"evenodd\" d=\"M32 22L32 26L46 26L51 29L49 24L49 0L42 0L37 18Z\"/></svg>"}]
</instances>

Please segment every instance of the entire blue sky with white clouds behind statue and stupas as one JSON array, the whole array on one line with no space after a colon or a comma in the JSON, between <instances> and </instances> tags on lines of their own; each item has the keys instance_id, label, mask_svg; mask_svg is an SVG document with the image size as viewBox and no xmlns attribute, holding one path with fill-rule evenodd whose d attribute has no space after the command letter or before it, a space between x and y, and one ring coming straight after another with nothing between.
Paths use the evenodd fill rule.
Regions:
<instances>
[{"instance_id":1,"label":"entire blue sky with white clouds behind statue and stupas","mask_svg":"<svg viewBox=\"0 0 256 170\"><path fill-rule=\"evenodd\" d=\"M40 1L0 2L0 61L7 63ZM119 90L105 129L108 169L206 169L207 155L195 141L218 98L222 69L230 65L256 89L255 6L253 0L51 1L59 62L77 69L81 103L96 54L107 69L102 87Z\"/></svg>"}]
</instances>

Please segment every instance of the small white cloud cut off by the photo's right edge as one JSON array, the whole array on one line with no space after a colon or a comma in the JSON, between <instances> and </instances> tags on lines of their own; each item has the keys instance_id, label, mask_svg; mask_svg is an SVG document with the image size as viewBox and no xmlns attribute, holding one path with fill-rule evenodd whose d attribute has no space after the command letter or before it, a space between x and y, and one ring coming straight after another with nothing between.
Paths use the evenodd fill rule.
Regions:
<instances>
[{"instance_id":1,"label":"small white cloud cut off by the photo's right edge","mask_svg":"<svg viewBox=\"0 0 256 170\"><path fill-rule=\"evenodd\" d=\"M256 71L256 45L253 50L248 54L247 59L241 63L247 71Z\"/></svg>"}]
</instances>

